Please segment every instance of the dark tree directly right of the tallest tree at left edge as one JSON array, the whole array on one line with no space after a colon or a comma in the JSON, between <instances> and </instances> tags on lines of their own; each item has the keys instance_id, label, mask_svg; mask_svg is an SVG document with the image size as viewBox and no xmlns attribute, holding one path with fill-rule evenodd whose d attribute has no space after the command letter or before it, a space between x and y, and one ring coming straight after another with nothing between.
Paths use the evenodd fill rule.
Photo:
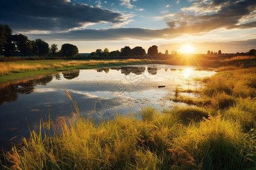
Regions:
<instances>
[{"instance_id":1,"label":"dark tree directly right of the tallest tree at left edge","mask_svg":"<svg viewBox=\"0 0 256 170\"><path fill-rule=\"evenodd\" d=\"M32 52L32 43L28 40L27 36L21 33L19 35L13 35L13 42L18 52L22 54L22 57Z\"/></svg>"}]
</instances>

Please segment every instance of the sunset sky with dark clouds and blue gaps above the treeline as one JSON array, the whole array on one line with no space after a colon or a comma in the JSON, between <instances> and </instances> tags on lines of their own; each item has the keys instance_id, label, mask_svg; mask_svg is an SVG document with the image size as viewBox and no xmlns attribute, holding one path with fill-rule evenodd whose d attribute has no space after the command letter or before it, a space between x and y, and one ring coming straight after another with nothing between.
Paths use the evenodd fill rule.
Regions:
<instances>
[{"instance_id":1,"label":"sunset sky with dark clouds and blue gaps above the treeline","mask_svg":"<svg viewBox=\"0 0 256 170\"><path fill-rule=\"evenodd\" d=\"M159 52L192 46L193 53L256 48L255 0L1 0L0 24L49 46L79 53L142 46Z\"/></svg>"}]
</instances>

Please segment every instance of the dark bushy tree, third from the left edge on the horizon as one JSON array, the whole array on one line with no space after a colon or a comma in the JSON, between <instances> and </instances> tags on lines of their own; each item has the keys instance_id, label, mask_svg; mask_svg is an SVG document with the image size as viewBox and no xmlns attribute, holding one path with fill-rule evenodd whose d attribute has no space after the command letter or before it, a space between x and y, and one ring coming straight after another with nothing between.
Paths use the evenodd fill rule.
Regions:
<instances>
[{"instance_id":1,"label":"dark bushy tree, third from the left edge on the horizon","mask_svg":"<svg viewBox=\"0 0 256 170\"><path fill-rule=\"evenodd\" d=\"M32 52L39 57L46 57L49 53L49 44L41 39L32 41Z\"/></svg>"}]
</instances>

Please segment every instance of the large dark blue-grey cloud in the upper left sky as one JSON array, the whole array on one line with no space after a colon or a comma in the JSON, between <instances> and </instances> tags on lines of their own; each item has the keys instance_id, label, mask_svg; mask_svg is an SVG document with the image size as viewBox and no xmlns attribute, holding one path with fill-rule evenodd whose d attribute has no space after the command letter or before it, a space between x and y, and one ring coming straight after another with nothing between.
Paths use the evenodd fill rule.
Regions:
<instances>
[{"instance_id":1,"label":"large dark blue-grey cloud in the upper left sky","mask_svg":"<svg viewBox=\"0 0 256 170\"><path fill-rule=\"evenodd\" d=\"M88 23L122 23L118 12L65 0L0 1L0 23L16 31L67 31Z\"/></svg>"}]
</instances>

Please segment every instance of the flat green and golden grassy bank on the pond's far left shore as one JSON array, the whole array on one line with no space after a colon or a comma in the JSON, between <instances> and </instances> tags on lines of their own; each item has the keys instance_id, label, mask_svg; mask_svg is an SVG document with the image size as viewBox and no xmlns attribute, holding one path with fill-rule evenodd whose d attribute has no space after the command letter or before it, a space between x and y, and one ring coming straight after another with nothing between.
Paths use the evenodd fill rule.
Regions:
<instances>
[{"instance_id":1,"label":"flat green and golden grassy bank on the pond's far left shore","mask_svg":"<svg viewBox=\"0 0 256 170\"><path fill-rule=\"evenodd\" d=\"M0 62L0 83L29 78L31 76L55 73L72 69L93 69L104 66L134 65L152 63L147 59L104 59L104 60L21 60Z\"/></svg>"}]
</instances>

